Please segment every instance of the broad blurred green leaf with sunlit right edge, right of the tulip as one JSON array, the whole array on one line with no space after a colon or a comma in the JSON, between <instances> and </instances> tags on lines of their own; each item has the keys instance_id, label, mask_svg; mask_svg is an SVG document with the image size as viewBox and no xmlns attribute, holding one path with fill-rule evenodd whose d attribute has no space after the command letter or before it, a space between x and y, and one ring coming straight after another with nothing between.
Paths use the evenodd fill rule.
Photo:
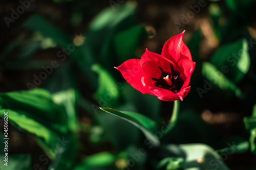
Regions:
<instances>
[{"instance_id":1,"label":"broad blurred green leaf with sunlit right edge, right of the tulip","mask_svg":"<svg viewBox=\"0 0 256 170\"><path fill-rule=\"evenodd\" d=\"M250 67L248 42L240 39L235 43L223 45L210 60L227 78L239 83L247 74Z\"/></svg>"}]
</instances>

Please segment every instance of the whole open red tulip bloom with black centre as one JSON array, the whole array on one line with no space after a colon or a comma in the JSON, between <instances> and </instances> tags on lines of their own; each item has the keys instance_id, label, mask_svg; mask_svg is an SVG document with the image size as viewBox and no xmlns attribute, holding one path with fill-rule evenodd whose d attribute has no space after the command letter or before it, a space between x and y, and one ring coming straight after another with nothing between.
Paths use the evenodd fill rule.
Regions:
<instances>
[{"instance_id":1,"label":"whole open red tulip bloom with black centre","mask_svg":"<svg viewBox=\"0 0 256 170\"><path fill-rule=\"evenodd\" d=\"M196 65L182 40L184 32L166 41L161 55L146 49L141 59L127 60L115 68L143 94L156 95L162 101L183 101Z\"/></svg>"}]
</instances>

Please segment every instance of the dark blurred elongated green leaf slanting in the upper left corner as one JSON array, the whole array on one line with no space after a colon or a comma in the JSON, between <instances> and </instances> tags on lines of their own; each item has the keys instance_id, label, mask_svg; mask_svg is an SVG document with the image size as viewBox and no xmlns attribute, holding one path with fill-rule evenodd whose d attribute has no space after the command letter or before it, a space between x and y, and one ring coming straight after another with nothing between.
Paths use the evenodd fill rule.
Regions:
<instances>
[{"instance_id":1,"label":"dark blurred elongated green leaf slanting in the upper left corner","mask_svg":"<svg viewBox=\"0 0 256 170\"><path fill-rule=\"evenodd\" d=\"M72 41L67 37L67 34L55 28L43 16L34 14L31 15L24 23L23 27L33 31L39 31L43 35L52 38L61 46L67 47Z\"/></svg>"}]
</instances>

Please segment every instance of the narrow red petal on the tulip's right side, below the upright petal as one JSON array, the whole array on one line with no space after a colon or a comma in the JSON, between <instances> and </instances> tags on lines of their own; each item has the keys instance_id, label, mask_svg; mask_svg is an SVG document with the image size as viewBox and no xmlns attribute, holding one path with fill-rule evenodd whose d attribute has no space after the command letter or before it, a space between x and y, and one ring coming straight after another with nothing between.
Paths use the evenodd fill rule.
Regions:
<instances>
[{"instance_id":1,"label":"narrow red petal on the tulip's right side, below the upright petal","mask_svg":"<svg viewBox=\"0 0 256 170\"><path fill-rule=\"evenodd\" d=\"M196 63L188 59L182 59L178 62L178 66L181 68L180 74L184 81L181 88L187 87L190 82L191 75L196 67Z\"/></svg>"}]
</instances>

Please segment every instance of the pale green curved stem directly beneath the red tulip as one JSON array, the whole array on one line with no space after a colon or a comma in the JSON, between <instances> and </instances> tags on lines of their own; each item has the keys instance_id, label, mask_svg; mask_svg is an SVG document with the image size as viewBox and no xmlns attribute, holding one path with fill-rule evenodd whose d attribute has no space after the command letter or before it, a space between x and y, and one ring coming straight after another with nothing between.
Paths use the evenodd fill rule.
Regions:
<instances>
[{"instance_id":1,"label":"pale green curved stem directly beneath the red tulip","mask_svg":"<svg viewBox=\"0 0 256 170\"><path fill-rule=\"evenodd\" d=\"M164 130L165 134L172 131L172 129L175 127L177 120L178 120L179 111L180 111L180 101L176 100L176 101L174 101L174 109L173 109L172 117L170 117L170 121Z\"/></svg>"}]
</instances>

